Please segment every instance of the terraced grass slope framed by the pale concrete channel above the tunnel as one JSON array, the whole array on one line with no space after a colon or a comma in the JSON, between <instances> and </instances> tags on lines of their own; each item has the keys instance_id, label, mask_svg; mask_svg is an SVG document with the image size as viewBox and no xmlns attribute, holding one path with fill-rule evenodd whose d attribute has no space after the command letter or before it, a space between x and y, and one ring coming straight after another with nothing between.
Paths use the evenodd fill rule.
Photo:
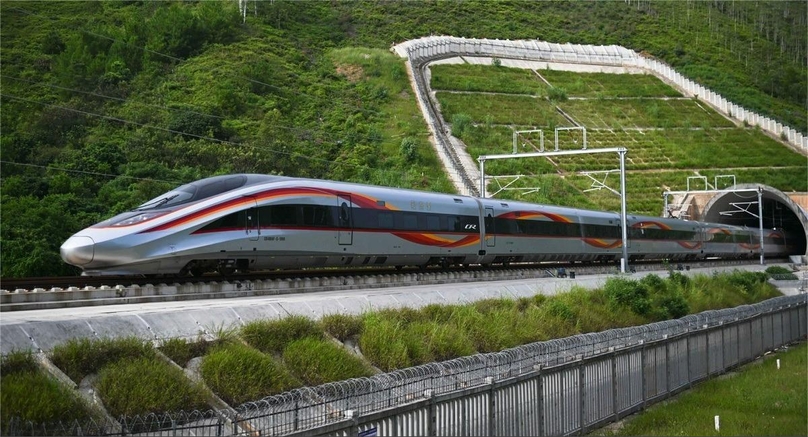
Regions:
<instances>
[{"instance_id":1,"label":"terraced grass slope framed by the pale concrete channel above the tunnel","mask_svg":"<svg viewBox=\"0 0 808 437\"><path fill-rule=\"evenodd\" d=\"M735 125L704 103L683 96L653 75L526 70L496 65L439 64L431 87L452 134L473 159L511 153L516 130L541 129L554 147L557 127L585 127L588 148L626 147L628 210L660 215L662 193L684 190L688 176L734 175L737 183L762 183L784 192L808 191L804 156L759 129ZM580 130L559 132L559 148L580 149ZM521 135L520 152L541 147L539 134ZM526 175L488 185L496 197L617 211L620 199L590 190L582 172L618 168L608 154L497 160L486 174ZM592 177L617 189L619 174ZM726 188L721 178L717 188ZM692 187L691 187L692 188Z\"/></svg>"}]
</instances>

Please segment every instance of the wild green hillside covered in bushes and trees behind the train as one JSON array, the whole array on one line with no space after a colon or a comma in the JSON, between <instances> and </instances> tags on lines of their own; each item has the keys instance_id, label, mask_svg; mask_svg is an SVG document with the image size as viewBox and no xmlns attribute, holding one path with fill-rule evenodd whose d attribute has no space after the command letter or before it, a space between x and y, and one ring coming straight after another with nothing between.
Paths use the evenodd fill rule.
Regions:
<instances>
[{"instance_id":1,"label":"wild green hillside covered in bushes and trees behind the train","mask_svg":"<svg viewBox=\"0 0 808 437\"><path fill-rule=\"evenodd\" d=\"M404 62L388 50L432 34L620 44L808 132L803 1L248 4L242 23L235 0L0 3L3 277L76 273L58 255L72 233L214 174L277 173L451 191L437 170ZM569 80L561 86L570 96L610 97L597 87L575 90L577 79ZM670 92L646 85L646 91L634 91ZM465 91L473 92L485 83L469 86ZM506 91L514 95L492 104L522 110L519 99L541 95L538 88L514 86ZM692 154L677 154L677 134L667 128L705 144L702 136L765 141L749 130L722 130L717 116L668 119L671 111L697 108L688 100L665 102L622 102L604 112L586 100L563 104L603 128L603 135L649 140L642 146L649 150L642 158L648 170L654 160L672 161L667 171L693 168L682 164ZM664 134L640 137L618 129L637 120L634 112L653 113L637 104L656 105L657 115L643 123L661 125ZM510 144L498 123L491 120L480 140L504 135L496 147ZM704 123L709 129L686 129ZM590 141L609 141L604 138L592 135ZM742 165L751 176L768 171ZM562 169L574 171L574 165ZM581 196L577 182L556 177L547 183L558 181L564 189L556 191ZM607 200L602 205L610 208ZM653 209L643 205L636 210Z\"/></svg>"}]
</instances>

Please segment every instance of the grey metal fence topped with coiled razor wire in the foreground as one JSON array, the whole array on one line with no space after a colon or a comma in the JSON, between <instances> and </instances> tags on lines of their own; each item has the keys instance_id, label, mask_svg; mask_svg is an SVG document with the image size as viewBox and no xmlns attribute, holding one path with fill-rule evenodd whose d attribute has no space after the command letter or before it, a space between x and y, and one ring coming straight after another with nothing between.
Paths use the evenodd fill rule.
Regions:
<instances>
[{"instance_id":1,"label":"grey metal fence topped with coiled razor wire in the foreground","mask_svg":"<svg viewBox=\"0 0 808 437\"><path fill-rule=\"evenodd\" d=\"M805 294L294 390L232 411L7 435L568 435L806 336Z\"/></svg>"}]
</instances>

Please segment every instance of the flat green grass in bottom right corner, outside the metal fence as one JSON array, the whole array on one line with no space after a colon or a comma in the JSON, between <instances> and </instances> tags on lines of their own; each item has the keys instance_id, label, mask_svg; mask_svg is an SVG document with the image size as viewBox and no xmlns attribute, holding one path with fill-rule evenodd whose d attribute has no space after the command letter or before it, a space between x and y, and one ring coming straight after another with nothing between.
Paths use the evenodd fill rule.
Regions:
<instances>
[{"instance_id":1,"label":"flat green grass in bottom right corner, outside the metal fence","mask_svg":"<svg viewBox=\"0 0 808 437\"><path fill-rule=\"evenodd\" d=\"M616 431L609 427L594 435L808 435L806 369L808 347L803 343L651 407Z\"/></svg>"}]
</instances>

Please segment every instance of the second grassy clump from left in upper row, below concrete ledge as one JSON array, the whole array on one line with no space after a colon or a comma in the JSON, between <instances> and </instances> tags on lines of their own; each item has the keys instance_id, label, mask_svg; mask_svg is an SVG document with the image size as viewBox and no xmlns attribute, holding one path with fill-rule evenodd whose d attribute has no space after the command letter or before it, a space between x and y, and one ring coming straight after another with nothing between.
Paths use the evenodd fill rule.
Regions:
<instances>
[{"instance_id":1,"label":"second grassy clump from left in upper row, below concrete ledge","mask_svg":"<svg viewBox=\"0 0 808 437\"><path fill-rule=\"evenodd\" d=\"M152 346L137 337L90 340L71 339L53 348L51 361L76 384L118 360L154 356Z\"/></svg>"}]
</instances>

